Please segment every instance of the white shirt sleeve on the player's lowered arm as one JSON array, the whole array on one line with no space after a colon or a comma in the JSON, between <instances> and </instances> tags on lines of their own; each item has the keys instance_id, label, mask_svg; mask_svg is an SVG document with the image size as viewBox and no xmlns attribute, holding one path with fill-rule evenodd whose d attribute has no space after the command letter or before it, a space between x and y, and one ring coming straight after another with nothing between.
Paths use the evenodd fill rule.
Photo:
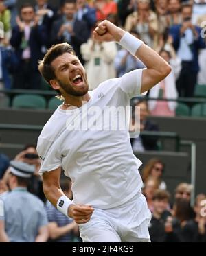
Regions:
<instances>
[{"instance_id":1,"label":"white shirt sleeve on the player's lowered arm","mask_svg":"<svg viewBox=\"0 0 206 256\"><path fill-rule=\"evenodd\" d=\"M59 147L55 146L54 142L51 143L39 138L37 152L41 159L40 174L55 170L62 165L62 156L59 152Z\"/></svg>"}]
</instances>

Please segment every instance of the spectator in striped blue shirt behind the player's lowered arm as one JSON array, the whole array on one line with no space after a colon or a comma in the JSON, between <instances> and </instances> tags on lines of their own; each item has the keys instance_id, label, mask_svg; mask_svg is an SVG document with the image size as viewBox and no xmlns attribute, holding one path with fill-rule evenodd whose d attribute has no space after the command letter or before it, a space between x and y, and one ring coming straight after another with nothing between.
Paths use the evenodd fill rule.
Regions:
<instances>
[{"instance_id":1,"label":"spectator in striped blue shirt behind the player's lowered arm","mask_svg":"<svg viewBox=\"0 0 206 256\"><path fill-rule=\"evenodd\" d=\"M69 179L60 181L60 187L72 200L71 181ZM78 233L78 224L58 211L49 201L47 201L46 211L49 220L49 242L74 242L76 233Z\"/></svg>"}]
</instances>

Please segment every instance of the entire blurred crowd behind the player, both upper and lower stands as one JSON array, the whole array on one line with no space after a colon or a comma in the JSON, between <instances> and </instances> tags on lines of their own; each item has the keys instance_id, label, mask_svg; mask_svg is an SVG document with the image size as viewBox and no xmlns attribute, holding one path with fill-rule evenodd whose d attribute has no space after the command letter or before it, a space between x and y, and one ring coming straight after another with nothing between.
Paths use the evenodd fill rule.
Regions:
<instances>
[{"instance_id":1,"label":"entire blurred crowd behind the player, both upper and lower stands","mask_svg":"<svg viewBox=\"0 0 206 256\"><path fill-rule=\"evenodd\" d=\"M117 43L93 40L94 27L104 19L144 40L172 67L170 75L148 92L153 100L133 102L139 108L133 110L130 131L158 132L148 115L173 117L177 104L155 99L193 97L196 84L206 86L205 0L62 0L58 7L36 0L34 6L16 6L16 0L0 1L0 34L4 35L0 38L0 89L42 89L38 60L49 47L62 42L71 44L84 64L90 90L104 80L144 68L141 60ZM138 115L140 122L135 123ZM157 136L144 134L132 138L131 145L134 152L159 148ZM14 161L0 154L0 242L80 242L76 223L46 200L39 167L35 145L25 146ZM206 195L198 194L191 205L193 188L188 183L180 183L169 193L163 181L165 168L161 159L150 159L141 172L143 193L152 212L151 241L206 242ZM25 170L30 174L25 176ZM61 187L72 199L71 181L61 178ZM13 196L15 193L19 196ZM8 206L7 197L11 198ZM14 218L17 211L22 218L25 213L32 216L32 222L26 217Z\"/></svg>"}]
</instances>

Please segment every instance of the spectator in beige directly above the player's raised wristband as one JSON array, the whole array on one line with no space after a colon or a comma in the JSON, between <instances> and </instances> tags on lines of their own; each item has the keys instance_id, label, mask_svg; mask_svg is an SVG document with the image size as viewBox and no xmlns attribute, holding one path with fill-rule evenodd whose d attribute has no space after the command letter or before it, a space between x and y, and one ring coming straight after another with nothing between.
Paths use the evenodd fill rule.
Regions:
<instances>
[{"instance_id":1,"label":"spectator in beige directly above the player's raised wristband","mask_svg":"<svg viewBox=\"0 0 206 256\"><path fill-rule=\"evenodd\" d=\"M157 15L150 10L150 0L137 0L137 12L127 17L125 30L136 30L150 47L157 45Z\"/></svg>"}]
</instances>

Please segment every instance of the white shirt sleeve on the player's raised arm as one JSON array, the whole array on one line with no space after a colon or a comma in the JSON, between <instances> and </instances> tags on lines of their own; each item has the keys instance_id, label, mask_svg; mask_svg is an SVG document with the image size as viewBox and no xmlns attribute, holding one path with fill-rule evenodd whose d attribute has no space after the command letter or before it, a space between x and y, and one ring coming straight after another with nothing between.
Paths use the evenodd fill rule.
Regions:
<instances>
[{"instance_id":1,"label":"white shirt sleeve on the player's raised arm","mask_svg":"<svg viewBox=\"0 0 206 256\"><path fill-rule=\"evenodd\" d=\"M120 87L130 98L141 94L141 78L144 69L136 69L122 76Z\"/></svg>"}]
</instances>

